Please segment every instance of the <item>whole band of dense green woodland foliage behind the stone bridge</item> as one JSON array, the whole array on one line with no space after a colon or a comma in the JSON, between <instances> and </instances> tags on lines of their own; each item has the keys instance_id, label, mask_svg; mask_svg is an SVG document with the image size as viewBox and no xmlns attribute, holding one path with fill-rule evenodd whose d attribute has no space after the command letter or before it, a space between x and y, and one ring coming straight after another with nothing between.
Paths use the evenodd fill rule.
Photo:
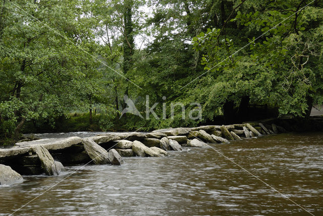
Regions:
<instances>
[{"instance_id":1,"label":"whole band of dense green woodland foliage behind the stone bridge","mask_svg":"<svg viewBox=\"0 0 323 216\"><path fill-rule=\"evenodd\" d=\"M318 0L4 0L1 137L75 111L102 130L243 121L248 104L306 118L323 102L322 52ZM158 118L120 118L125 94L143 117L149 95ZM170 118L176 102L202 118Z\"/></svg>"}]
</instances>

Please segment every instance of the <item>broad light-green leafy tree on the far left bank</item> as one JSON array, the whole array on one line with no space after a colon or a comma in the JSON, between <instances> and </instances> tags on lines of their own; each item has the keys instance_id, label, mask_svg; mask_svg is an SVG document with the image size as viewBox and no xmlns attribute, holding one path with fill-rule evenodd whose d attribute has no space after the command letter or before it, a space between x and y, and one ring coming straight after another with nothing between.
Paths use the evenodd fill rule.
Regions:
<instances>
[{"instance_id":1,"label":"broad light-green leafy tree on the far left bank","mask_svg":"<svg viewBox=\"0 0 323 216\"><path fill-rule=\"evenodd\" d=\"M26 120L51 119L83 105L83 85L97 63L88 55L96 47L91 24L78 4L4 1L0 122L5 136L18 138Z\"/></svg>"}]
</instances>

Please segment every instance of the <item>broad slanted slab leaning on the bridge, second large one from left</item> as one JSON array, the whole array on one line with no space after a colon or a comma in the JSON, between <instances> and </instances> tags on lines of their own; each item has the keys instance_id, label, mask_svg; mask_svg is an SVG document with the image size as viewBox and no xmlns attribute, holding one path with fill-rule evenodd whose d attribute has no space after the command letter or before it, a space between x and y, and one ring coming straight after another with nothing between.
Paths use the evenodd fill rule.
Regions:
<instances>
[{"instance_id":1,"label":"broad slanted slab leaning on the bridge, second large one from left","mask_svg":"<svg viewBox=\"0 0 323 216\"><path fill-rule=\"evenodd\" d=\"M93 160L94 164L110 164L107 151L96 144L91 138L82 139L85 151L89 157Z\"/></svg>"}]
</instances>

